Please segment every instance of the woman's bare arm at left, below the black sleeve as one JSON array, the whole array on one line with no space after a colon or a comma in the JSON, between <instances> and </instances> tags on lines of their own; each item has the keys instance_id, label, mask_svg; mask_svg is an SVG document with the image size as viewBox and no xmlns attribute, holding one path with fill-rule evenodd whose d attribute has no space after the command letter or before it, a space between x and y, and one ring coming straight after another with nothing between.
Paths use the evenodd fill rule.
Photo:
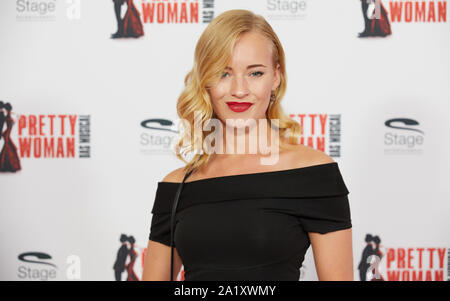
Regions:
<instances>
[{"instance_id":1,"label":"woman's bare arm at left, below the black sleeve","mask_svg":"<svg viewBox=\"0 0 450 301\"><path fill-rule=\"evenodd\" d=\"M149 240L145 255L142 281L170 281L170 247ZM183 265L177 249L173 248L173 280L177 279Z\"/></svg>"}]
</instances>

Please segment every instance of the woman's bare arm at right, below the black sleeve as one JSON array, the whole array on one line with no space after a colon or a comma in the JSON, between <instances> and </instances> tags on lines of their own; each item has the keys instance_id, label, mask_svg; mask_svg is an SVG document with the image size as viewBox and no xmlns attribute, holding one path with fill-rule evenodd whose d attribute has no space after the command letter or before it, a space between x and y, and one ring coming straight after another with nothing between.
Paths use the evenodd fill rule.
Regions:
<instances>
[{"instance_id":1,"label":"woman's bare arm at right, below the black sleeve","mask_svg":"<svg viewBox=\"0 0 450 301\"><path fill-rule=\"evenodd\" d=\"M320 281L353 281L352 229L309 232Z\"/></svg>"}]
</instances>

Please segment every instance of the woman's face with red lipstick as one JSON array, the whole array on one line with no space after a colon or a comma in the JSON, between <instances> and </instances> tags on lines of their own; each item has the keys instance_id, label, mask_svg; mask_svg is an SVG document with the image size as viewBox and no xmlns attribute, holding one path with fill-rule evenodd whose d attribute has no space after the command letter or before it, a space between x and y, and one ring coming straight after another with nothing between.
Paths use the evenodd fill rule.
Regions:
<instances>
[{"instance_id":1,"label":"woman's face with red lipstick","mask_svg":"<svg viewBox=\"0 0 450 301\"><path fill-rule=\"evenodd\" d=\"M279 64L274 69L270 40L257 32L244 33L219 82L209 89L214 112L223 123L226 119L254 119L258 123L266 118L271 92L279 84ZM233 106L228 102L251 105Z\"/></svg>"}]
</instances>

